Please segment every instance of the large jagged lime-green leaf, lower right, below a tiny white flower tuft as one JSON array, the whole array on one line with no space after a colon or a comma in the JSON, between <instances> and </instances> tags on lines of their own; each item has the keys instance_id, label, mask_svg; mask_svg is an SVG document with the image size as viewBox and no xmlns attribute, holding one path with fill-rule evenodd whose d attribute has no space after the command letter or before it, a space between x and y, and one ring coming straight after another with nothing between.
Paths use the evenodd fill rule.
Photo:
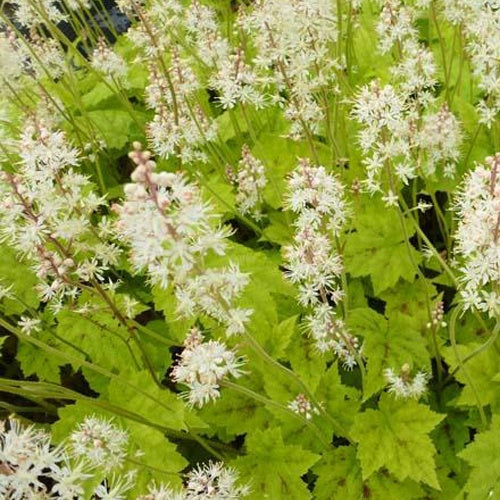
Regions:
<instances>
[{"instance_id":1,"label":"large jagged lime-green leaf, lower right, below a tiny white flower tuft","mask_svg":"<svg viewBox=\"0 0 500 500\"><path fill-rule=\"evenodd\" d=\"M400 481L410 478L439 489L429 432L444 417L416 401L383 394L379 409L359 414L351 429L363 479L385 468Z\"/></svg>"}]
</instances>

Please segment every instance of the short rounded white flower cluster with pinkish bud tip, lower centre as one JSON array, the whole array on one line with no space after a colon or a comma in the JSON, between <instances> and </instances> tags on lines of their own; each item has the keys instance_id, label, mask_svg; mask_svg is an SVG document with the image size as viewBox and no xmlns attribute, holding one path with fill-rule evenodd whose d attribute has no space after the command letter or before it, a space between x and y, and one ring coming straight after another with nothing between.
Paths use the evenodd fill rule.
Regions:
<instances>
[{"instance_id":1,"label":"short rounded white flower cluster with pinkish bud tip, lower centre","mask_svg":"<svg viewBox=\"0 0 500 500\"><path fill-rule=\"evenodd\" d=\"M226 376L239 377L244 360L217 340L203 341L198 328L192 328L184 350L172 370L172 380L187 385L183 396L190 406L202 407L220 397L220 382Z\"/></svg>"}]
</instances>

